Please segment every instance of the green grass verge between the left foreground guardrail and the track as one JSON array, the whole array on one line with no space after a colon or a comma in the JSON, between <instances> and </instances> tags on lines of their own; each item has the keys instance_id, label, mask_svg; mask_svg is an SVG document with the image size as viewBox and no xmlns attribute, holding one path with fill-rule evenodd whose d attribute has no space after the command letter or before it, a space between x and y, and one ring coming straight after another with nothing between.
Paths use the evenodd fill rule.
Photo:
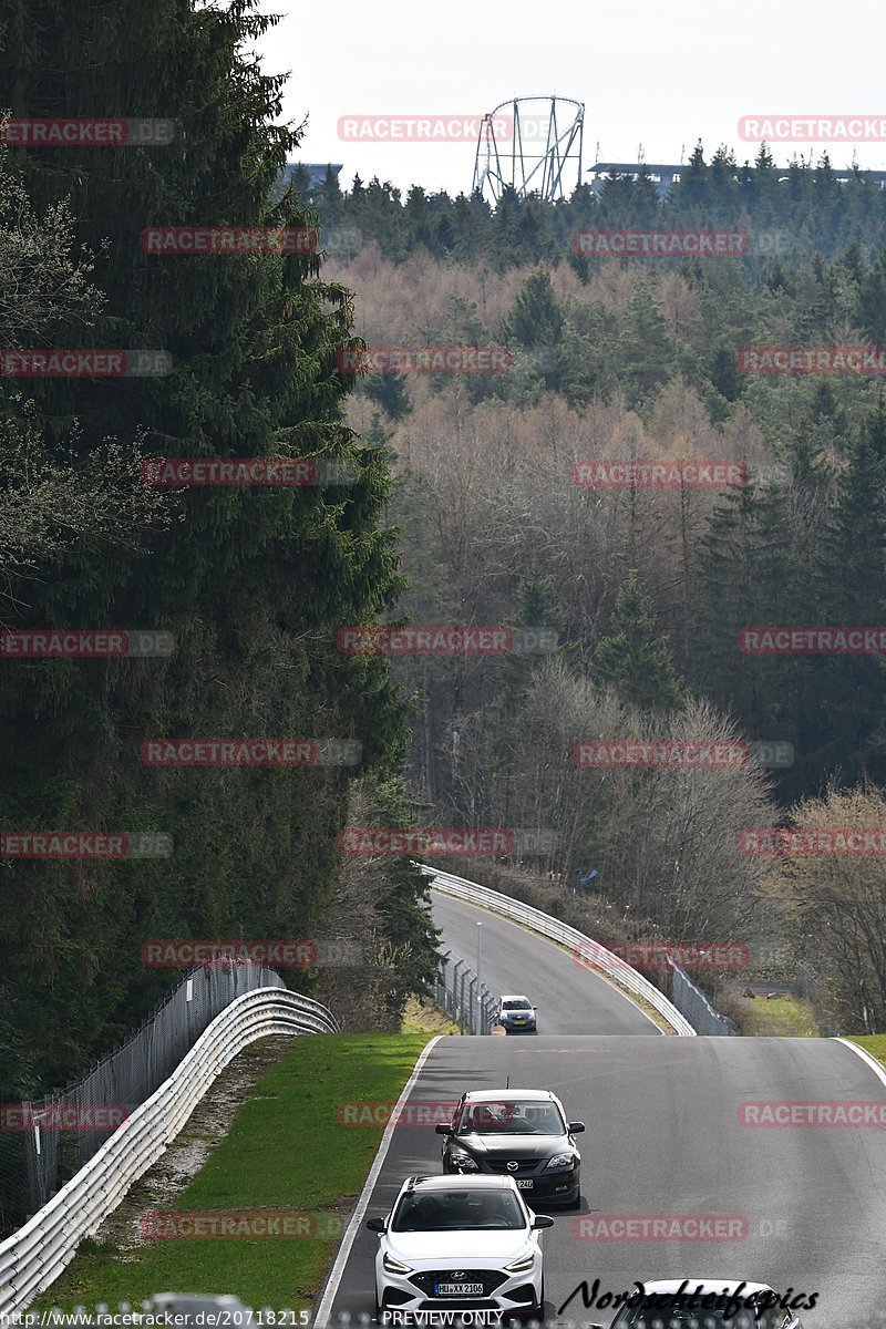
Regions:
<instances>
[{"instance_id":1,"label":"green grass verge between the left foreground guardrail and the track","mask_svg":"<svg viewBox=\"0 0 886 1329\"><path fill-rule=\"evenodd\" d=\"M381 1140L383 1126L339 1126L351 1100L396 1102L428 1037L323 1034L258 1082L231 1130L163 1212L288 1209L347 1220ZM60 1278L31 1309L106 1301L137 1305L157 1292L234 1293L275 1310L312 1306L339 1237L170 1237L132 1251L81 1243Z\"/></svg>"}]
</instances>

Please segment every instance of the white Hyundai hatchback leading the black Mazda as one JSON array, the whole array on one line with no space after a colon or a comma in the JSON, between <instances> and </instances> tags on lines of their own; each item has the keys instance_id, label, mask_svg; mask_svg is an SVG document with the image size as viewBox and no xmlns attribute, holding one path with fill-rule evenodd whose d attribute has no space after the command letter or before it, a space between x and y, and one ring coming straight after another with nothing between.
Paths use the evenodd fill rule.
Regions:
<instances>
[{"instance_id":1,"label":"white Hyundai hatchback leading the black Mazda","mask_svg":"<svg viewBox=\"0 0 886 1329\"><path fill-rule=\"evenodd\" d=\"M545 1265L533 1215L509 1176L406 1177L379 1233L376 1320L385 1312L501 1310L543 1318Z\"/></svg>"}]
</instances>

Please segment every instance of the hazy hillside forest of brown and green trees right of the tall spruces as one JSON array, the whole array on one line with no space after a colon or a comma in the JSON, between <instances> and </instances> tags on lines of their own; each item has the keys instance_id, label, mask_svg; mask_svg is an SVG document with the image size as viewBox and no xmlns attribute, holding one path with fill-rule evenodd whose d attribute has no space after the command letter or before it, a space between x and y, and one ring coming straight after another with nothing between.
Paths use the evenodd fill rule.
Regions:
<instances>
[{"instance_id":1,"label":"hazy hillside forest of brown and green trees right of the tall spruces","mask_svg":"<svg viewBox=\"0 0 886 1329\"><path fill-rule=\"evenodd\" d=\"M740 169L701 148L671 198L651 195L611 179L490 214L377 179L341 193L331 173L303 191L367 347L509 358L503 373L367 372L349 400L395 473L409 587L389 621L557 635L537 655L393 661L422 703L412 788L434 824L543 845L450 870L558 882L543 906L561 910L584 882L602 941L741 938L782 975L804 958L837 1026L882 1029L882 859L751 853L741 832L882 827L882 630L857 653L753 643L883 623L886 195L837 183L826 158L780 173L765 150ZM688 226L739 229L747 253L575 254L582 231ZM748 372L752 348L794 355ZM656 485L654 466L719 482ZM587 740L748 758L580 767Z\"/></svg>"}]
</instances>

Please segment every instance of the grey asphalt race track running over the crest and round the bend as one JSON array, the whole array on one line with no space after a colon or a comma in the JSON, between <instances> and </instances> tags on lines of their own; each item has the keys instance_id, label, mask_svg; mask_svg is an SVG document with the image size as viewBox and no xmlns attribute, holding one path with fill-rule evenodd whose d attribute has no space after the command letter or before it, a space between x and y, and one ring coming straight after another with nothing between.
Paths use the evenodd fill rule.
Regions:
<instances>
[{"instance_id":1,"label":"grey asphalt race track running over the crest and round the bend","mask_svg":"<svg viewBox=\"0 0 886 1329\"><path fill-rule=\"evenodd\" d=\"M580 1294L559 1312L582 1280L592 1286L595 1278L599 1296L630 1290L635 1280L699 1276L818 1293L817 1309L798 1312L804 1329L882 1314L886 1130L740 1119L748 1100L886 1102L886 1086L859 1057L834 1039L663 1037L543 938L440 894L434 914L444 944L472 964L482 920L485 979L497 993L537 1001L542 1031L441 1038L410 1100L498 1088L510 1076L511 1087L554 1090L587 1126L578 1136L582 1209L553 1213L555 1225L542 1235L547 1324L608 1324L612 1312L584 1309ZM406 1176L437 1174L441 1144L432 1126L397 1126L367 1216L385 1215ZM626 1215L683 1216L683 1236L603 1240L616 1229L608 1220ZM735 1220L732 1237L692 1239L685 1219L712 1215ZM377 1240L357 1232L329 1325L372 1316Z\"/></svg>"}]
</instances>

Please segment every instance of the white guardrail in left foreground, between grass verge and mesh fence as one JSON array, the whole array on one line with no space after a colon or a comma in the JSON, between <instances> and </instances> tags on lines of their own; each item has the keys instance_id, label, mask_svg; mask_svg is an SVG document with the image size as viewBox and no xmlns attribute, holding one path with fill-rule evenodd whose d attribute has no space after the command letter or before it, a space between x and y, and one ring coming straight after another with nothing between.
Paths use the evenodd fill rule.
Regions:
<instances>
[{"instance_id":1,"label":"white guardrail in left foreground, between grass verge and mesh fence","mask_svg":"<svg viewBox=\"0 0 886 1329\"><path fill-rule=\"evenodd\" d=\"M0 1321L24 1309L175 1139L238 1053L274 1034L333 1034L335 1017L286 987L258 987L226 1006L167 1080L124 1122L43 1209L0 1244Z\"/></svg>"}]
</instances>

